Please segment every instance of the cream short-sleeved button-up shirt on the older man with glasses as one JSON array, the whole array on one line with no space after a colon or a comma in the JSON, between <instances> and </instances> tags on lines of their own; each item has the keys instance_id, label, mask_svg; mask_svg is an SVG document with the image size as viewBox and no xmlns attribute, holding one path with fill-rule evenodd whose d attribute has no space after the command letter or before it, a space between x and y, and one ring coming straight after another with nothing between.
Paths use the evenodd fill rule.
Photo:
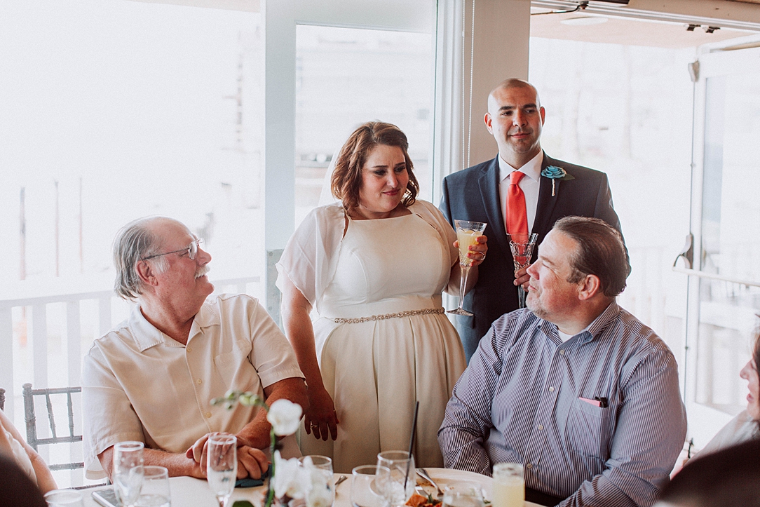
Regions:
<instances>
[{"instance_id":1,"label":"cream short-sleeved button-up shirt on the older man with glasses","mask_svg":"<svg viewBox=\"0 0 760 507\"><path fill-rule=\"evenodd\" d=\"M292 377L303 378L293 348L250 296L223 294L204 303L186 346L135 306L84 358L87 477L104 477L97 455L118 442L185 452L206 433L237 433L258 408L226 410L211 400L229 389L263 396L265 387Z\"/></svg>"}]
</instances>

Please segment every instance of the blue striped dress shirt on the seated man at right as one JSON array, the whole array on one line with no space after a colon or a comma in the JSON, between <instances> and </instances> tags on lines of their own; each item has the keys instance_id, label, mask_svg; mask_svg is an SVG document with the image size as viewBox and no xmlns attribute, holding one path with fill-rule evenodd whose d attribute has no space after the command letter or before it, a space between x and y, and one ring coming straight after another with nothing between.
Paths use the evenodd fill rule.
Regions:
<instances>
[{"instance_id":1,"label":"blue striped dress shirt on the seated man at right","mask_svg":"<svg viewBox=\"0 0 760 507\"><path fill-rule=\"evenodd\" d=\"M490 475L522 463L525 485L563 507L622 507L654 503L685 436L673 353L613 302L564 343L527 309L502 315L454 387L438 440L446 467Z\"/></svg>"}]
</instances>

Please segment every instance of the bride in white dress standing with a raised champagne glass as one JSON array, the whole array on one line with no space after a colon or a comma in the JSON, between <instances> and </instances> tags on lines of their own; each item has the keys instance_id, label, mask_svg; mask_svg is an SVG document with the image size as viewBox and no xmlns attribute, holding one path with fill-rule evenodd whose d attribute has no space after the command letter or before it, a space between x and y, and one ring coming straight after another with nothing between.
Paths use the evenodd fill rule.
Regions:
<instances>
[{"instance_id":1,"label":"bride in white dress standing with a raised champagne glass","mask_svg":"<svg viewBox=\"0 0 760 507\"><path fill-rule=\"evenodd\" d=\"M353 132L331 179L341 202L312 211L277 264L285 331L309 386L301 450L330 456L340 473L406 449L417 400L417 464L442 467L436 436L467 366L442 308L442 290L458 294L456 234L415 200L407 147L388 123ZM486 257L481 238L473 266ZM477 268L468 278L471 287Z\"/></svg>"}]
</instances>

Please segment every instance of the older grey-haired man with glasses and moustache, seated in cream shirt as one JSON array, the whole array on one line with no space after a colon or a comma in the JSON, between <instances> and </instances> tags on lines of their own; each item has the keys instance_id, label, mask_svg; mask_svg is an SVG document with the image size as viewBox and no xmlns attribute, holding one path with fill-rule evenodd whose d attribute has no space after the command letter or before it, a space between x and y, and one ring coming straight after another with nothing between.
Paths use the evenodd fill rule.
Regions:
<instances>
[{"instance_id":1,"label":"older grey-haired man with glasses and moustache, seated in cream shirt","mask_svg":"<svg viewBox=\"0 0 760 507\"><path fill-rule=\"evenodd\" d=\"M145 464L170 475L204 477L209 433L235 433L238 477L268 466L264 411L212 407L229 389L255 391L271 404L305 406L306 385L293 349L258 301L220 295L208 281L211 255L176 220L128 223L113 246L116 293L137 301L130 317L100 337L84 359L84 447L87 477L110 475L113 445L144 442ZM299 455L293 437L283 455Z\"/></svg>"}]
</instances>

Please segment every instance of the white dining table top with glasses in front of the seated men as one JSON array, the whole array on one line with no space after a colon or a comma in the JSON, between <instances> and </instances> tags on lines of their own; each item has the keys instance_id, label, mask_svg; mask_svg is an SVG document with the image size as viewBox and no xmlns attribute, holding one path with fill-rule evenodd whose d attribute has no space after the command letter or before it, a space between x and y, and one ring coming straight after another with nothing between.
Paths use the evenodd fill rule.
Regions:
<instances>
[{"instance_id":1,"label":"white dining table top with glasses in front of the seated men","mask_svg":"<svg viewBox=\"0 0 760 507\"><path fill-rule=\"evenodd\" d=\"M486 500L491 499L492 478L485 475L476 474L463 470L453 470L451 468L426 468L429 476L441 488L453 486L458 482L477 482L483 487L483 494ZM351 505L351 474L334 474L337 481L341 475L346 475L347 480L338 484L335 488L334 507L352 507ZM92 490L83 490L84 507L100 507L92 497L91 492L106 487L101 486ZM219 507L216 497L208 488L205 480L195 479L193 477L171 477L169 478L169 490L172 496L172 507ZM231 507L236 500L248 500L256 507L261 507L263 502L266 486L257 486L251 488L236 488L227 505ZM540 507L537 503L525 502L525 507Z\"/></svg>"}]
</instances>

